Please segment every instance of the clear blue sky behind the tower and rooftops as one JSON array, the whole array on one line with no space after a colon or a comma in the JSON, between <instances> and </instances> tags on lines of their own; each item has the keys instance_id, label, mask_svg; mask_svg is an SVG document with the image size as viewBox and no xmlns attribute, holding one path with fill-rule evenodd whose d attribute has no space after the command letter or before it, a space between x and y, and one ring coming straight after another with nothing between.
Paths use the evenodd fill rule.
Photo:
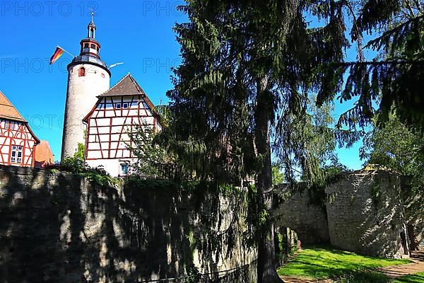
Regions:
<instances>
[{"instance_id":1,"label":"clear blue sky behind the tower and rooftops","mask_svg":"<svg viewBox=\"0 0 424 283\"><path fill-rule=\"evenodd\" d=\"M90 8L96 11L100 56L112 69L111 86L128 72L139 81L153 103L167 102L172 88L170 67L177 67L179 45L172 26L187 18L176 7L182 1L1 1L0 91L16 106L40 139L49 141L55 160L61 151L66 99L64 54L54 65L49 58L60 45L78 55L86 37ZM336 114L351 103L336 106ZM360 144L338 150L341 162L361 167Z\"/></svg>"}]
</instances>

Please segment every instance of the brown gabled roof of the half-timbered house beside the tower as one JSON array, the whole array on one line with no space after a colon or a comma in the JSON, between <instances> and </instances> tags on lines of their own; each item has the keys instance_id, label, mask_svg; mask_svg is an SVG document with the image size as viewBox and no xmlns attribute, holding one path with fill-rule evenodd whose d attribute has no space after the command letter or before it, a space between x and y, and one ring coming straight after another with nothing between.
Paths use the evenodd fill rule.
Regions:
<instances>
[{"instance_id":1,"label":"brown gabled roof of the half-timbered house beside the tower","mask_svg":"<svg viewBox=\"0 0 424 283\"><path fill-rule=\"evenodd\" d=\"M88 122L88 118L93 114L95 108L100 103L100 100L104 97L110 97L110 96L141 96L143 100L148 105L148 108L151 109L153 115L159 120L160 122L160 115L158 111L155 109L155 105L152 103L150 98L148 98L147 94L143 91L143 88L137 83L136 79L134 79L131 74L127 74L124 76L120 81L115 83L112 88L110 88L108 91L105 91L104 93L100 94L98 96L98 102L95 103L93 106L93 109L88 112L86 117L84 117L83 121Z\"/></svg>"}]
</instances>

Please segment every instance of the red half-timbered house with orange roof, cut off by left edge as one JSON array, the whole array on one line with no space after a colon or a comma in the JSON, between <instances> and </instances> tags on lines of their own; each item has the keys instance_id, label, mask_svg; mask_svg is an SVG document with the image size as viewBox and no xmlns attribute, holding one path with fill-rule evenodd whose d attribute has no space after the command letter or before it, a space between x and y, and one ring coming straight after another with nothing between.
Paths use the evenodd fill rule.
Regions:
<instances>
[{"instance_id":1,"label":"red half-timbered house with orange roof, cut off by left edge","mask_svg":"<svg viewBox=\"0 0 424 283\"><path fill-rule=\"evenodd\" d=\"M28 122L0 91L0 164L33 167L39 143Z\"/></svg>"}]
</instances>

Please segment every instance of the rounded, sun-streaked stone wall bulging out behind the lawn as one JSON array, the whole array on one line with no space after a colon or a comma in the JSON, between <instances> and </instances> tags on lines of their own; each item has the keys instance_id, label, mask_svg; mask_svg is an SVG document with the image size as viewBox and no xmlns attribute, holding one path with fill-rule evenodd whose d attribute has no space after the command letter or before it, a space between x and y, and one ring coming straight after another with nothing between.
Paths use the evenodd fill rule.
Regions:
<instances>
[{"instance_id":1,"label":"rounded, sun-streaked stone wall bulging out behind the lawn","mask_svg":"<svg viewBox=\"0 0 424 283\"><path fill-rule=\"evenodd\" d=\"M326 205L331 244L365 255L404 255L408 244L404 243L406 225L400 189L399 175L387 171L341 175L337 183L326 187L331 199Z\"/></svg>"}]
</instances>

